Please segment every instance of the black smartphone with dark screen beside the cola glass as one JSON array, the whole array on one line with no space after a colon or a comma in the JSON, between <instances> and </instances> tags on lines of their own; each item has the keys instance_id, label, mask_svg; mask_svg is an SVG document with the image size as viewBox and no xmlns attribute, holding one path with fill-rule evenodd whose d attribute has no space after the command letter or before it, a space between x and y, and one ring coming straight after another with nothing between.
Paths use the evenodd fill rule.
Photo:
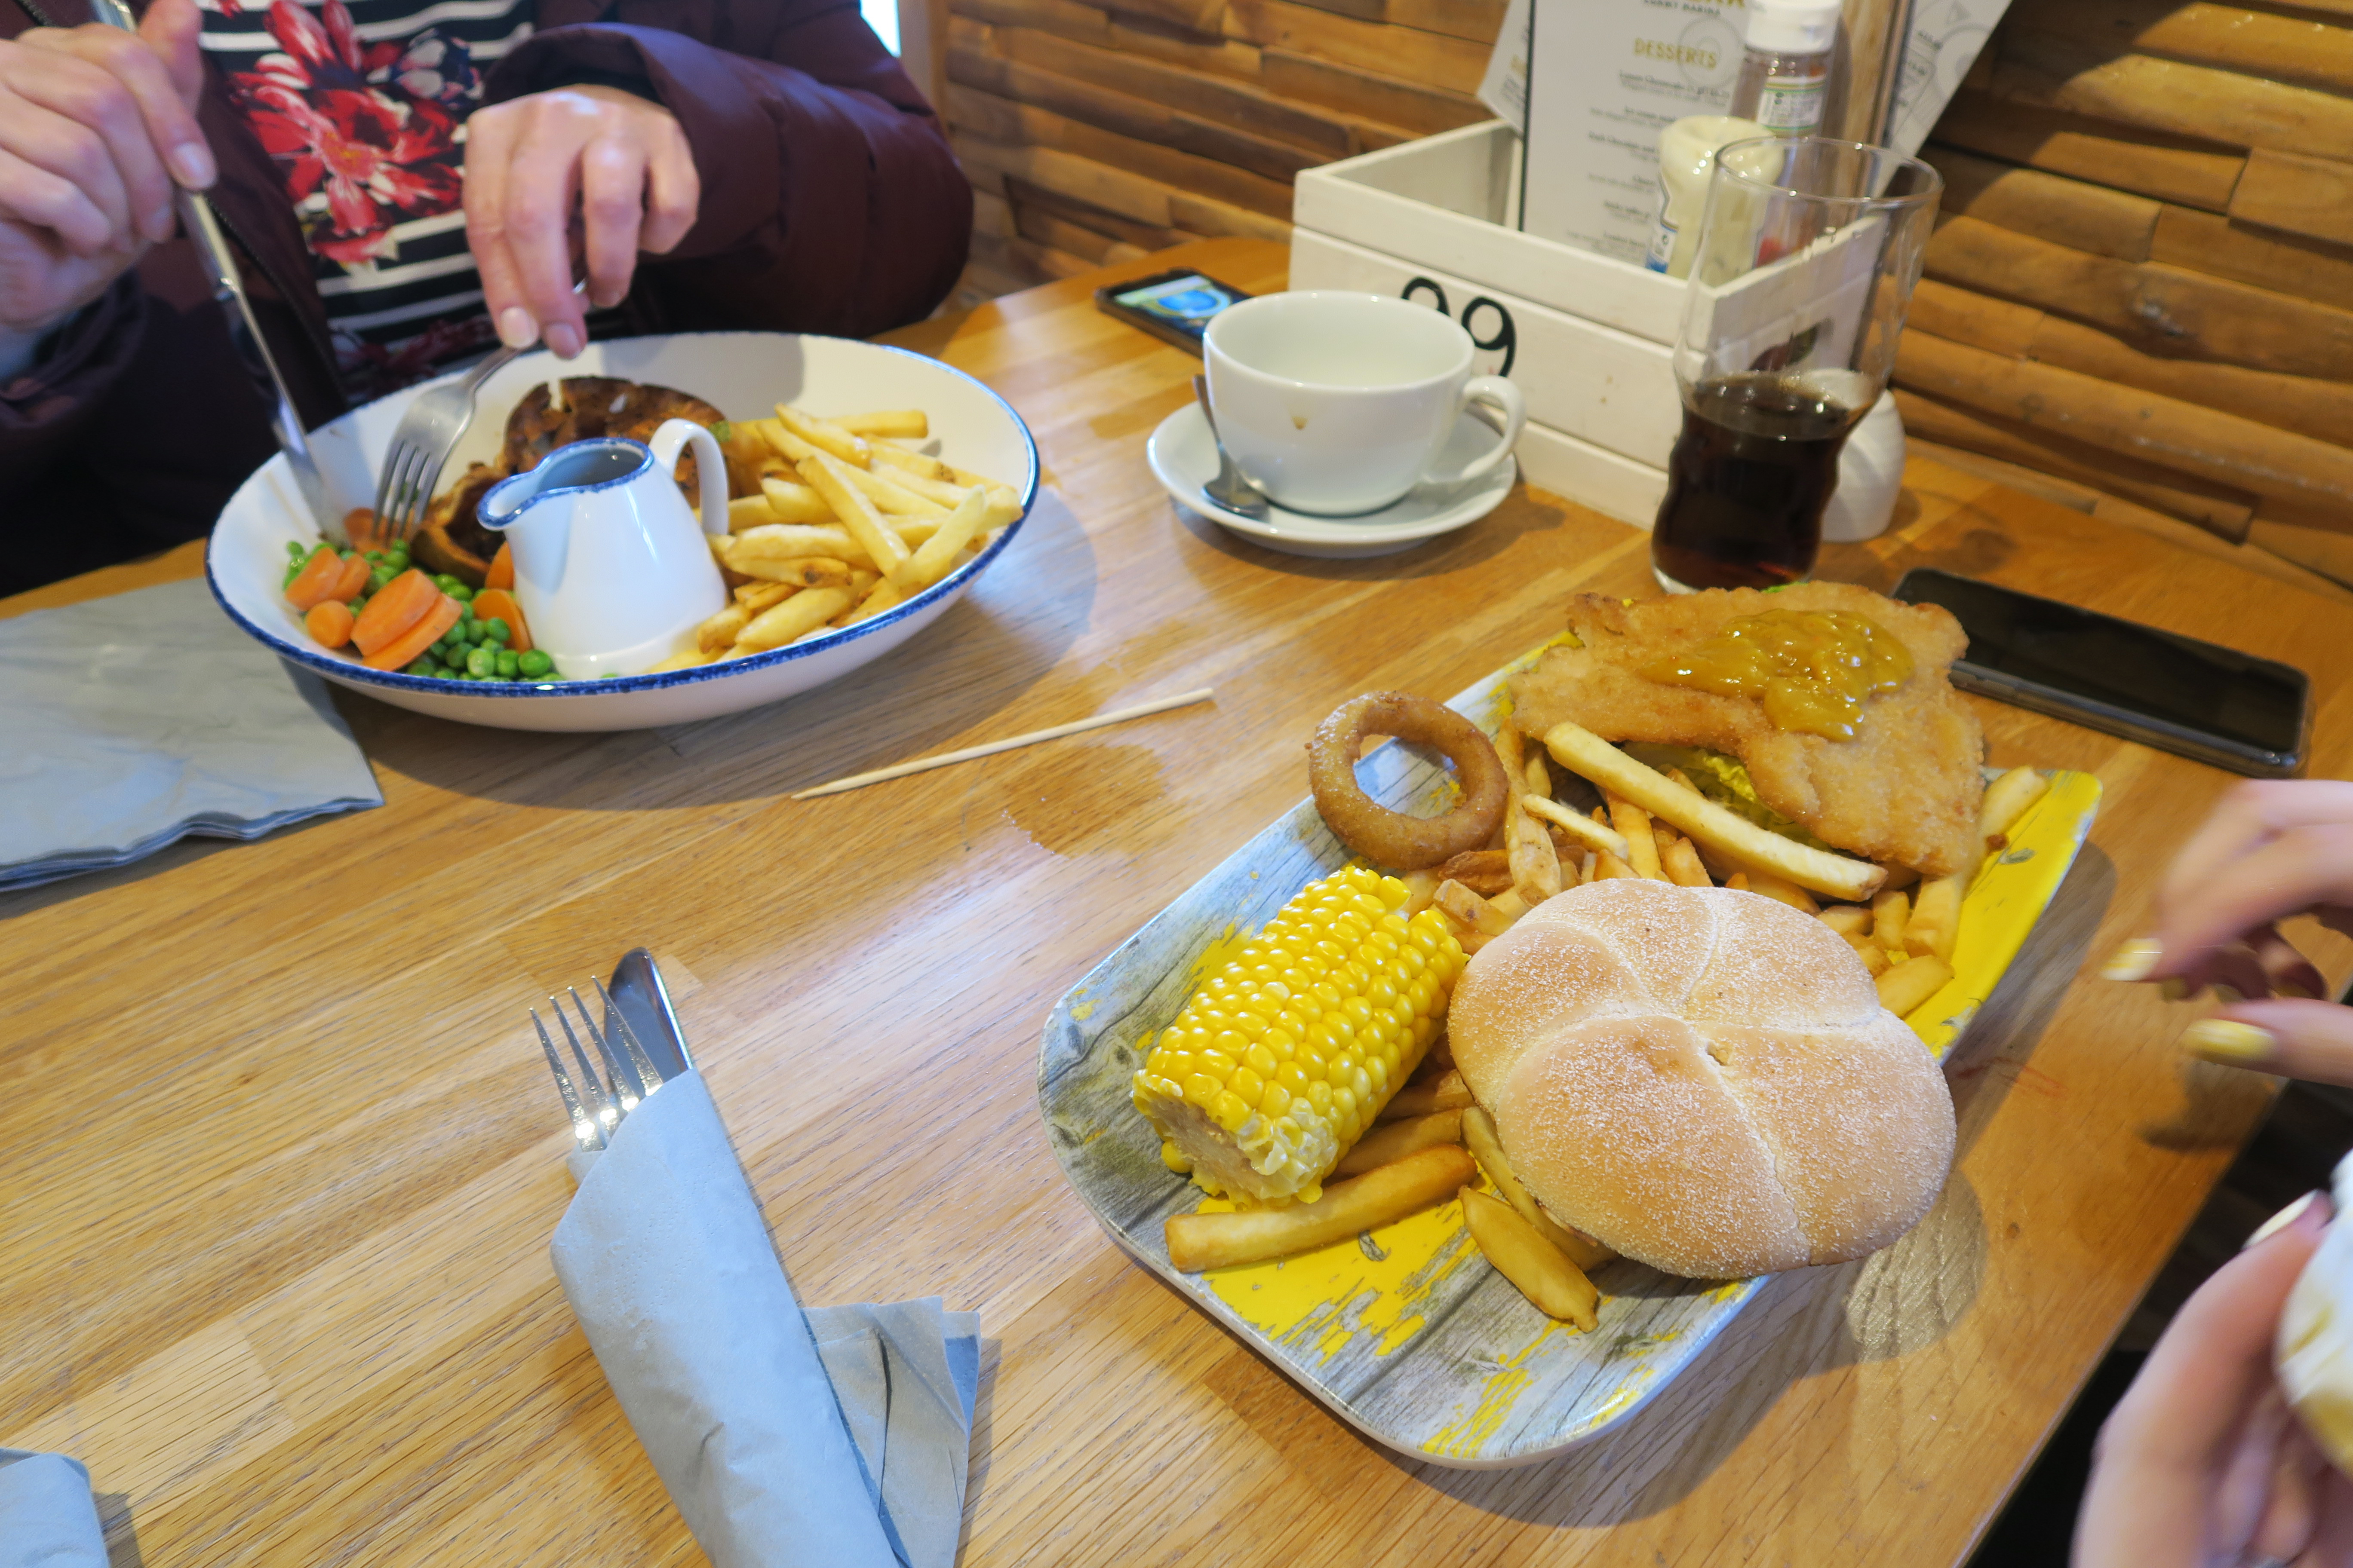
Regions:
<instances>
[{"instance_id":1,"label":"black smartphone with dark screen beside the cola glass","mask_svg":"<svg viewBox=\"0 0 2353 1568\"><path fill-rule=\"evenodd\" d=\"M2294 665L1915 567L1894 597L1944 604L1969 635L1962 691L2073 719L2233 773L2304 766L2311 679Z\"/></svg>"}]
</instances>

